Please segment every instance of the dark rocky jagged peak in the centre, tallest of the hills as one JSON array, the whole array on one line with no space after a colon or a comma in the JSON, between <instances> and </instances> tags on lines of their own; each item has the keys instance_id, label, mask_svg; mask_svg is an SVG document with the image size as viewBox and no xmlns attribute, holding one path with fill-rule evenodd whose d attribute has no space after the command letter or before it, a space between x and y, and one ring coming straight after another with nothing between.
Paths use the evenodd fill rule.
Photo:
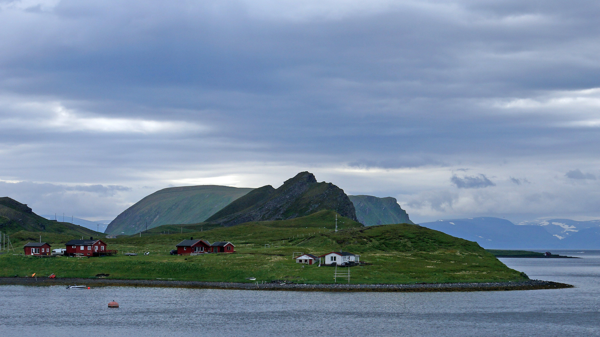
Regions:
<instances>
[{"instance_id":1,"label":"dark rocky jagged peak in the centre, tallest of the hills","mask_svg":"<svg viewBox=\"0 0 600 337\"><path fill-rule=\"evenodd\" d=\"M232 226L293 219L326 209L356 221L354 205L343 189L330 182L317 182L314 174L305 171L287 179L277 189L271 185L255 189L223 207L206 222Z\"/></svg>"}]
</instances>

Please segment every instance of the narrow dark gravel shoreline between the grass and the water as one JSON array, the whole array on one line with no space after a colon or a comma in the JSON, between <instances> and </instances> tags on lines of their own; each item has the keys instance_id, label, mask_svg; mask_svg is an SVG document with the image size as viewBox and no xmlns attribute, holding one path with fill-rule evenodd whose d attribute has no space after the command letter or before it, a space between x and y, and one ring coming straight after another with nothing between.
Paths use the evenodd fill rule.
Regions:
<instances>
[{"instance_id":1,"label":"narrow dark gravel shoreline between the grass and the water","mask_svg":"<svg viewBox=\"0 0 600 337\"><path fill-rule=\"evenodd\" d=\"M175 287L232 290L287 290L287 291L499 291L573 288L571 284L537 279L518 282L434 283L434 284L256 284L199 281L161 281L131 279L87 278L0 278L0 285L73 285L94 287Z\"/></svg>"}]
</instances>

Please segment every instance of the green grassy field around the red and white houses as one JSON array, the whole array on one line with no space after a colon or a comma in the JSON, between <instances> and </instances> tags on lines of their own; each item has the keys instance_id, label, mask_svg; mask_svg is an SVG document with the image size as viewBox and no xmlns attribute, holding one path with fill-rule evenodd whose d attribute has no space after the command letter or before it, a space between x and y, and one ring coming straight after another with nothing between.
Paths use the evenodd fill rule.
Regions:
<instances>
[{"instance_id":1,"label":"green grassy field around the red and white houses","mask_svg":"<svg viewBox=\"0 0 600 337\"><path fill-rule=\"evenodd\" d=\"M297 264L293 252L321 255L343 250L360 254L361 261L367 262L365 266L350 268L353 284L527 279L475 242L418 225L362 227L350 219L342 219L347 227L335 233L331 228L332 215L331 211L322 211L293 221L257 222L183 234L160 234L159 230L159 233L142 233L142 237L104 239L109 249L119 249L119 255L112 257L40 258L2 254L0 276L55 273L61 278L94 278L104 273L116 279L251 282L245 278L255 277L257 281L286 279L320 284L334 281L334 268ZM176 243L191 236L210 242L230 241L236 245L236 253L169 255ZM53 248L58 246L56 242ZM17 253L22 252L21 247ZM141 254L145 251L150 255ZM125 256L123 252L140 255Z\"/></svg>"}]
</instances>

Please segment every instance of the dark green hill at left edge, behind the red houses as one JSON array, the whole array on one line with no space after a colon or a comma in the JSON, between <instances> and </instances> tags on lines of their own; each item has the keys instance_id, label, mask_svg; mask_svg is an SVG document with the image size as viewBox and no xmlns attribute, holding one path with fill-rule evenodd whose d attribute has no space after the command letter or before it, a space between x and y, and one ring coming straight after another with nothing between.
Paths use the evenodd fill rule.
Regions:
<instances>
[{"instance_id":1,"label":"dark green hill at left edge, behind the red houses","mask_svg":"<svg viewBox=\"0 0 600 337\"><path fill-rule=\"evenodd\" d=\"M68 234L71 236L103 236L95 230L58 222L35 214L30 207L9 197L0 198L0 231L13 234L18 231Z\"/></svg>"}]
</instances>

